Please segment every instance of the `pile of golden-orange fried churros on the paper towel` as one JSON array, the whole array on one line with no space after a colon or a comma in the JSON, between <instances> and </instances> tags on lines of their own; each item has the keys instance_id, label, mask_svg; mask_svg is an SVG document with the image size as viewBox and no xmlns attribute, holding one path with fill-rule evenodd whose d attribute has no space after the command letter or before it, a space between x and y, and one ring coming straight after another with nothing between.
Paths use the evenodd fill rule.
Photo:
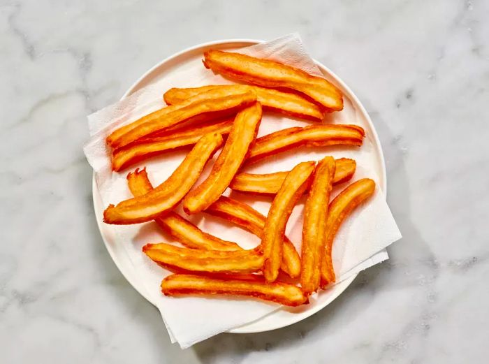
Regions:
<instances>
[{"instance_id":1,"label":"pile of golden-orange fried churros on the paper towel","mask_svg":"<svg viewBox=\"0 0 489 364\"><path fill-rule=\"evenodd\" d=\"M141 167L145 160L175 148L187 147L189 152L173 174L155 187L146 168L129 173L133 198L109 205L103 221L155 221L179 243L143 247L149 259L173 272L161 282L165 295L238 295L290 306L308 303L312 293L335 282L335 234L342 221L372 196L375 183L358 180L331 200L335 185L349 181L356 170L353 159L332 156L277 173L251 174L243 169L300 147L360 147L365 132L356 125L322 122L326 113L343 108L342 93L324 78L270 59L220 50L205 52L203 64L237 83L170 89L163 95L166 107L107 137L115 172ZM262 115L269 110L313 124L257 138ZM218 150L210 174L196 185ZM268 216L224 196L226 189L270 196ZM299 254L285 228L304 195ZM206 233L175 212L179 205L186 214L203 214L204 218L210 214L236 224L261 243L243 249L236 242Z\"/></svg>"}]
</instances>

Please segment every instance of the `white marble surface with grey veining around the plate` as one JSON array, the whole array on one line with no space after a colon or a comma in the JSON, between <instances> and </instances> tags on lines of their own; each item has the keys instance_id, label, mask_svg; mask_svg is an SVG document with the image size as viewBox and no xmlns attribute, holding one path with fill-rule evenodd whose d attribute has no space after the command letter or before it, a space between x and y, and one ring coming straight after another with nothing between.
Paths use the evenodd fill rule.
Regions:
<instances>
[{"instance_id":1,"label":"white marble surface with grey veining around the plate","mask_svg":"<svg viewBox=\"0 0 489 364\"><path fill-rule=\"evenodd\" d=\"M488 1L0 2L2 363L486 363ZM219 38L299 31L363 101L404 235L289 328L180 350L105 251L85 115Z\"/></svg>"}]
</instances>

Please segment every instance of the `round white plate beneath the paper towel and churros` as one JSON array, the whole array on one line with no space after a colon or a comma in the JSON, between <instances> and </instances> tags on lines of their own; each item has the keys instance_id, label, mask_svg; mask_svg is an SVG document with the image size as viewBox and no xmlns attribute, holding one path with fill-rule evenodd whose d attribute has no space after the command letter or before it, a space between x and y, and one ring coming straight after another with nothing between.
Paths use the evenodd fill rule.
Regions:
<instances>
[{"instance_id":1,"label":"round white plate beneath the paper towel and churros","mask_svg":"<svg viewBox=\"0 0 489 364\"><path fill-rule=\"evenodd\" d=\"M202 58L203 52L210 48L213 49L230 49L230 48L242 48L247 47L249 45L254 45L256 43L261 43L261 41L254 41L249 39L238 39L238 40L227 40L227 41L214 41L210 43L196 45L195 47L188 48L187 50L183 50L180 53L174 54L171 57L161 61L161 63L157 64L149 71L147 71L139 80L137 80L127 92L122 96L122 99L126 98L133 92L142 89L148 85L152 85L152 83L161 80L173 72L177 71L177 68L180 68L187 62L195 61L196 58ZM379 142L379 138L377 136L377 132L374 129L374 125L372 124L372 120L367 115L365 108L358 101L357 97L351 92L349 87L347 87L340 78L337 77L333 72L331 72L326 66L323 66L321 63L316 61L317 66L321 69L321 72L326 75L329 80L332 80L337 87L339 87L343 94L348 97L353 103L353 108L356 109L358 114L358 118L363 120L363 125L366 133L369 133L372 136L372 140L374 143L374 149L376 152L377 159L377 175L379 176L378 185L385 194L386 191L386 166L384 162L384 154L381 150L381 145ZM126 250L121 244L118 244L115 240L115 231L114 229L117 226L112 226L108 224L103 224L103 210L104 206L101 202L101 197L97 189L95 175L92 182L92 191L94 196L94 209L95 215L98 223L98 228L100 229L103 242L105 243L105 247L112 257L117 268L122 272L122 275L126 277L131 286L133 286L136 291L138 291L143 297L145 297L149 302L153 303L149 298L149 294L145 289L145 286L140 282L138 278L138 273L134 270L131 261L129 260L129 256L127 256ZM229 330L230 333L259 333L262 331L275 330L277 328L282 328L284 326L289 326L292 323L296 323L312 314L318 312L331 303L337 296L348 287L353 279L355 279L356 275L345 279L344 281L336 284L326 291L322 291L319 296L314 300L314 302L310 305L307 305L307 308L304 307L295 307L289 308L284 307L281 310L276 312L272 312L268 316L265 316L257 321L252 323L247 323L244 326L239 328L234 328L233 330ZM153 303L154 304L154 303Z\"/></svg>"}]
</instances>

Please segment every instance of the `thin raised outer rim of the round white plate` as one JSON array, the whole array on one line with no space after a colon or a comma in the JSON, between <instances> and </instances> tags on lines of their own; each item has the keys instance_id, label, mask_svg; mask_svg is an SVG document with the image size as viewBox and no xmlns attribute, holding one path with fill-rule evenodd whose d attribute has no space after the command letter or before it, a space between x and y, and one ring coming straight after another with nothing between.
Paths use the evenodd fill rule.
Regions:
<instances>
[{"instance_id":1,"label":"thin raised outer rim of the round white plate","mask_svg":"<svg viewBox=\"0 0 489 364\"><path fill-rule=\"evenodd\" d=\"M194 45L194 46L191 46L189 48L185 48L184 50L181 50L180 52L176 52L176 53L170 55L169 57L166 57L162 61L159 61L159 63L157 63L154 66L152 66L151 68L149 68L149 70L147 70L145 73L143 73L143 75L141 75L140 78L138 78L135 82L133 82L133 84L129 87L129 89L127 89L126 92L124 92L124 94L122 95L121 99L119 99L119 101L126 99L126 97L133 94L133 92L136 92L136 91L138 91L138 89L143 88L143 86L141 84L143 84L145 82L145 80L147 78L149 78L149 76L152 75L152 73L154 73L154 71L158 70L161 66L169 63L170 61L174 61L175 59L182 57L184 54L198 50L200 48L212 47L215 45L221 45L222 46L222 45L228 45L229 43L240 43L240 44L243 44L242 47L246 47L249 45L255 45L255 44L263 43L263 42L265 42L265 41L256 40L256 39L249 39L249 38L231 38L231 39L223 39L223 40L200 43L198 45ZM363 103L360 102L360 100L358 99L356 94L354 94L351 91L350 87L348 87L348 85L346 85L346 83L340 77L338 77L338 75L336 75L336 73L331 71L328 67L324 66L323 64L321 64L321 62L317 61L316 59L313 59L313 60L314 60L314 63L316 64L316 66L318 66L321 69L321 71L326 71L326 73L328 73L335 80L335 82L337 82L339 85L341 85L341 87L343 89L345 89L346 92L348 92L351 99L353 99L352 101L354 101L354 103L356 103L356 105L358 105L358 107L360 108L360 112L362 112L363 116L367 120L367 123L370 124L371 129L372 129L372 137L374 139L374 143L375 143L376 149L377 149L377 154L379 155L380 161L381 161L381 175L379 175L379 178L381 179L381 181L379 181L379 187L380 187L381 192L384 195L384 197L386 197L386 191L387 191L386 161L384 158L384 151L382 149L382 146L381 146L381 143L379 140L379 136L377 134L377 129L375 129L374 123L372 122L370 115L367 113L367 110L365 110L365 106L363 106ZM136 274L129 275L129 270L126 270L126 268L123 268L126 265L124 265L121 262L121 260L119 259L120 257L118 255L116 255L115 249L112 249L112 247L110 246L110 243L108 242L108 239L105 237L105 234L102 233L102 231L105 231L105 226L102 225L103 222L101 219L101 217L102 217L101 212L98 212L98 210L96 208L96 205L98 205L98 203L100 203L101 198L100 198L100 194L98 193L97 186L96 186L95 172L92 173L92 200L93 200L93 204L94 204L94 212L95 212L95 216L96 216L98 231L101 234L101 238L102 238L103 243L105 245L105 249L107 249L107 251L110 255L110 258L115 263L115 265L117 266L117 269L119 269L119 272L121 272L121 274L127 280L127 282L129 282L129 284L131 284L131 286L133 286L133 289L136 289L136 291L138 291L138 293L140 293L140 295L143 296L149 303L156 306L156 304L150 298L149 293L145 289L144 284L134 284L133 283L133 282L139 281L138 275L136 275ZM127 256L126 250L125 249L123 249L123 250L124 250L124 254L126 256L125 259L127 259L130 262L129 256ZM291 326L294 323L302 321L303 319L306 319L307 317L312 316L316 312L323 310L323 308L325 308L331 302L333 302L333 300L335 300L338 296L340 296L346 290L346 288L349 287L349 285L351 284L351 282L353 282L353 280L356 278L357 275L358 275L358 273L352 275L351 277L344 279L342 282L337 284L336 286L340 286L340 290L338 290L334 296L331 296L330 299L326 300L326 303L324 303L324 305L314 307L312 310L307 311L307 316L302 316L302 315L298 314L296 319L292 319L291 321L287 322L286 324L279 323L277 326L272 326L270 328L263 328L260 330L252 328L254 323L257 323L257 322L263 320L264 317L268 317L268 316L274 314L276 312L276 311L274 311L274 312L271 312L267 316L263 316L260 319L257 319L256 321L252 321L251 323L246 323L243 326L240 326L238 328L233 328L231 330L227 330L226 332L227 333L261 333L261 332L265 332L265 331L277 330L279 328L284 328L286 326ZM248 329L247 329L247 326L249 326Z\"/></svg>"}]
</instances>

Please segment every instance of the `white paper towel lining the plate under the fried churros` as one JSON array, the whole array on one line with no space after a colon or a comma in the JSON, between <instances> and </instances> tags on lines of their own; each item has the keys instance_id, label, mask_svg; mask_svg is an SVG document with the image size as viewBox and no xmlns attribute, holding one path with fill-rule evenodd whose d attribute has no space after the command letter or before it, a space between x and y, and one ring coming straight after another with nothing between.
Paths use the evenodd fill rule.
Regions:
<instances>
[{"instance_id":1,"label":"white paper towel lining the plate under the fried churros","mask_svg":"<svg viewBox=\"0 0 489 364\"><path fill-rule=\"evenodd\" d=\"M300 38L296 34L284 36L268 43L241 48L238 52L256 57L275 59L302 68L309 73L322 75L314 61L308 56ZM145 87L145 89L139 90L126 99L89 115L91 138L85 145L84 151L96 173L98 191L105 206L109 203L119 203L119 201L131 197L126 183L126 171L112 173L110 169L110 151L105 146L105 137L119 126L129 124L149 112L162 108L165 105L162 99L163 92L170 89L170 87L197 87L224 83L230 82L221 78L220 75L214 75L212 71L205 69L200 59L191 59L182 62L179 68L156 80L149 87ZM247 171L270 173L279 170L290 170L300 161L319 160L325 155L333 155L336 158L349 157L356 159L357 171L353 180L370 177L379 182L379 178L381 178L381 170L379 169L381 161L379 161L374 150L373 139L369 136L367 123L358 116L347 97L344 99L344 110L328 115L326 122L333 124L359 124L363 126L367 132L363 147L330 147L300 150L300 152L286 152L267 161L256 163L252 168L247 168ZM290 126L305 126L307 124L310 123L265 112L258 136ZM147 166L148 175L153 184L157 185L166 180L182 161L185 153L185 151L168 152L162 157L143 163L143 166ZM212 163L209 163L209 165L212 166ZM201 180L207 175L210 166L207 166ZM333 189L333 196L339 191L340 189L338 188ZM265 215L270 207L270 198L257 198L256 196L245 196L233 192L231 192L231 196L250 203L256 210ZM302 234L302 209L303 198L293 210L286 228L286 234L298 249L300 249ZM183 214L181 209L179 212ZM203 231L217 235L225 240L239 242L242 247L251 248L259 243L258 238L254 235L242 231L242 229L231 224L226 224L225 221L219 221L217 218L208 215L203 218L201 214L188 218L199 228L202 228ZM145 285L152 302L156 304L161 312L172 342L178 342L182 348L190 347L196 342L231 328L256 321L280 309L280 306L274 303L265 303L247 298L173 298L163 296L160 291L160 283L161 279L168 275L169 272L150 261L141 252L141 247L147 242L168 242L174 241L173 238L159 230L153 222L131 226L113 226L113 230L115 231L117 244L125 247L133 268L138 272L140 282ZM358 208L356 212L353 212L353 215L346 219L344 225L337 233L333 249L333 263L335 271L338 273L338 282L355 275L371 265L388 259L385 247L400 239L400 237L400 231L395 224L384 195L377 188L373 198ZM328 291L319 293L319 295L327 294ZM319 299L321 297L316 298L316 296L312 297L311 305L321 301Z\"/></svg>"}]
</instances>

